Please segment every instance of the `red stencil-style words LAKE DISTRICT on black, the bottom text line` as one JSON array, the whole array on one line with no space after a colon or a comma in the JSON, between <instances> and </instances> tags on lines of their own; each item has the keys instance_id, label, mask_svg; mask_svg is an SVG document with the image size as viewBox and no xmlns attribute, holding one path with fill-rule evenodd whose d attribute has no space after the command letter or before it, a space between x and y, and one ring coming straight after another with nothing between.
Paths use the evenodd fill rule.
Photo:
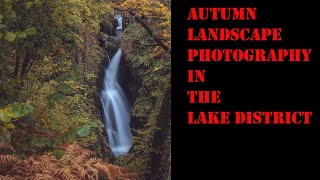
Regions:
<instances>
[{"instance_id":1,"label":"red stencil-style words LAKE DISTRICT on black, the bottom text line","mask_svg":"<svg viewBox=\"0 0 320 180\"><path fill-rule=\"evenodd\" d=\"M310 124L312 112L188 112L188 124ZM232 121L232 120L233 121ZM232 121L232 122L231 122Z\"/></svg>"}]
</instances>

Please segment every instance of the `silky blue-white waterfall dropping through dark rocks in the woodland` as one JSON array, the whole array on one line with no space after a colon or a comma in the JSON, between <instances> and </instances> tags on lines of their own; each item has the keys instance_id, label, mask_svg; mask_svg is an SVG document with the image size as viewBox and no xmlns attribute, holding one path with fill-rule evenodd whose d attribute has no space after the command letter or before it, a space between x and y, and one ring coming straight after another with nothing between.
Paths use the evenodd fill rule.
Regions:
<instances>
[{"instance_id":1,"label":"silky blue-white waterfall dropping through dark rocks in the woodland","mask_svg":"<svg viewBox=\"0 0 320 180\"><path fill-rule=\"evenodd\" d=\"M122 17L116 15L117 35L122 33ZM121 32L120 32L121 31ZM101 95L105 128L111 151L116 156L125 155L132 146L130 114L126 96L118 82L118 71L121 60L121 48L111 58L105 71L104 86Z\"/></svg>"}]
</instances>

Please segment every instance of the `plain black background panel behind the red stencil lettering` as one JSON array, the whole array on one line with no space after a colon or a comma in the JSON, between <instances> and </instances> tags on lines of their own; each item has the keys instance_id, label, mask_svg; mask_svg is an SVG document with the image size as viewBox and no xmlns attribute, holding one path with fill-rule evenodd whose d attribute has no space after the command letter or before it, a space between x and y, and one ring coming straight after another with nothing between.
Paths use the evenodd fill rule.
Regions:
<instances>
[{"instance_id":1,"label":"plain black background panel behind the red stencil lettering","mask_svg":"<svg viewBox=\"0 0 320 180\"><path fill-rule=\"evenodd\" d=\"M280 3L280 4L279 4ZM257 7L256 21L187 22L190 7ZM319 30L316 1L172 1L172 178L319 179ZM188 42L188 27L279 27L281 42ZM312 48L308 63L190 63L188 48ZM187 83L188 69L207 69ZM222 103L188 104L187 90ZM187 111L313 111L311 125L187 125ZM258 176L253 176L258 174ZM223 178L217 178L222 175ZM312 175L313 178L308 178ZM308 176L308 177L307 177Z\"/></svg>"}]
</instances>

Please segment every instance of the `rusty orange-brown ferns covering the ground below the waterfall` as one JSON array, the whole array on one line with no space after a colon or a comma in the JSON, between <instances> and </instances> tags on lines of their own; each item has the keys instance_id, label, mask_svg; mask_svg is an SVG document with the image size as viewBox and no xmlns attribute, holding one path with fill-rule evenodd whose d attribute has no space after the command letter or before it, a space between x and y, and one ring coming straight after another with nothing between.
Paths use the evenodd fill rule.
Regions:
<instances>
[{"instance_id":1,"label":"rusty orange-brown ferns covering the ground below the waterfall","mask_svg":"<svg viewBox=\"0 0 320 180\"><path fill-rule=\"evenodd\" d=\"M101 159L92 157L94 152L84 149L78 144L71 144L65 149L65 154L58 160L53 155L33 156L19 160L16 155L0 155L0 167L8 167L2 179L34 179L34 180L136 180L136 173L129 173L125 168L104 163ZM9 168L9 166L12 166ZM11 178L11 179L10 179Z\"/></svg>"}]
</instances>

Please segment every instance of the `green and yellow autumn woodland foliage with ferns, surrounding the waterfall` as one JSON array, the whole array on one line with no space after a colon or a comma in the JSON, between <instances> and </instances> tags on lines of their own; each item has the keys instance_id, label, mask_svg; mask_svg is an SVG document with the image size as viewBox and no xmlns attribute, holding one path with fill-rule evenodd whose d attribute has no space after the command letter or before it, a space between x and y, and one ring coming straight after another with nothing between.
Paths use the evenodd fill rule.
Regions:
<instances>
[{"instance_id":1,"label":"green and yellow autumn woodland foliage with ferns, surrounding the waterfall","mask_svg":"<svg viewBox=\"0 0 320 180\"><path fill-rule=\"evenodd\" d=\"M0 180L168 177L170 2L0 0ZM135 96L122 157L106 140L98 85L118 46Z\"/></svg>"}]
</instances>

